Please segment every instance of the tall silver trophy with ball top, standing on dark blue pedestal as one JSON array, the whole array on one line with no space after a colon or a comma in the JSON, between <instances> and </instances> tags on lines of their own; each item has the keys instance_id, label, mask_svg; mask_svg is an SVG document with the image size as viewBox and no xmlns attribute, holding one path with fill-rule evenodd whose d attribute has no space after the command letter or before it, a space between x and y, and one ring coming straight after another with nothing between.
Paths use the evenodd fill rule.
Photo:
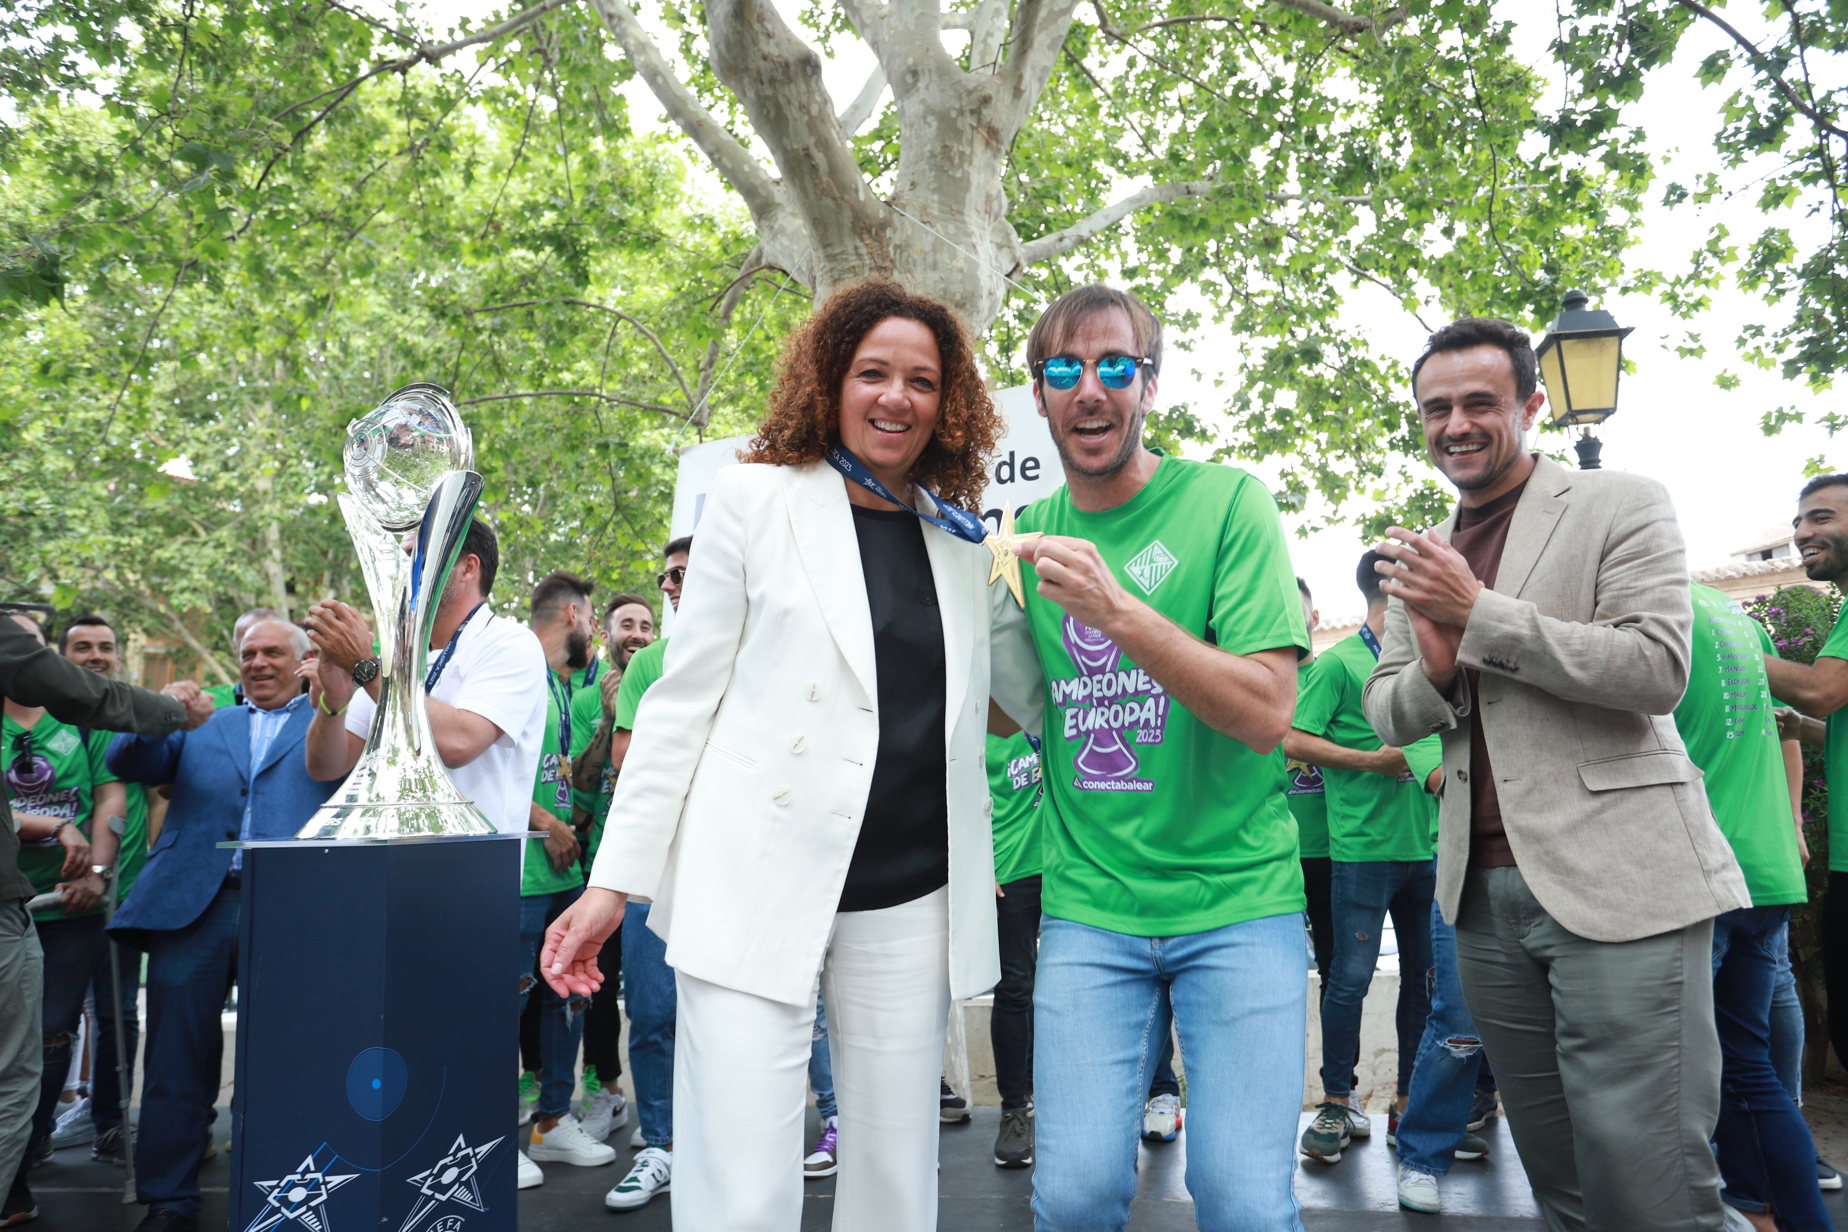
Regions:
<instances>
[{"instance_id":1,"label":"tall silver trophy with ball top, standing on dark blue pedestal","mask_svg":"<svg viewBox=\"0 0 1848 1232\"><path fill-rule=\"evenodd\" d=\"M492 835L436 754L423 674L449 569L482 478L447 390L407 384L347 425L340 513L379 632L379 709L366 752L298 839Z\"/></svg>"}]
</instances>

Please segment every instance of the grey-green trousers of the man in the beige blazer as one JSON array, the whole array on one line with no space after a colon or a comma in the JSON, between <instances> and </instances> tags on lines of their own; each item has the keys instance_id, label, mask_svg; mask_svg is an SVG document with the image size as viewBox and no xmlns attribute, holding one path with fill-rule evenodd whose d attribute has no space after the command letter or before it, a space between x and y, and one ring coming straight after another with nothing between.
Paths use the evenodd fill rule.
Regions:
<instances>
[{"instance_id":1,"label":"grey-green trousers of the man in the beige blazer","mask_svg":"<svg viewBox=\"0 0 1848 1232\"><path fill-rule=\"evenodd\" d=\"M1519 868L1471 868L1464 997L1550 1232L1720 1232L1713 922L1569 933Z\"/></svg>"}]
</instances>

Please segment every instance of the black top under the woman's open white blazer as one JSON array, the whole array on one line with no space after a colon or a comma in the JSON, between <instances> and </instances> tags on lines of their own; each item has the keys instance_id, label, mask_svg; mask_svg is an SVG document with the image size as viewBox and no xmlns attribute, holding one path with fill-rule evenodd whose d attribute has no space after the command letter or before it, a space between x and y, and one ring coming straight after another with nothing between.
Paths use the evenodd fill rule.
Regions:
<instances>
[{"instance_id":1,"label":"black top under the woman's open white blazer","mask_svg":"<svg viewBox=\"0 0 1848 1232\"><path fill-rule=\"evenodd\" d=\"M854 506L880 678L880 757L846 866L841 911L878 911L950 881L944 794L944 665L937 582L924 523L904 510Z\"/></svg>"}]
</instances>

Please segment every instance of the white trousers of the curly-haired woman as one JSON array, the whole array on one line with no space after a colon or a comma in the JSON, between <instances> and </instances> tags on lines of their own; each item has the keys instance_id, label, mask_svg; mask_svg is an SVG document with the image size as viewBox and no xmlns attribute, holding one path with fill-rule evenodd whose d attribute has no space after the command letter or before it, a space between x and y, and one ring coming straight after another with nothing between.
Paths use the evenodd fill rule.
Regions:
<instances>
[{"instance_id":1,"label":"white trousers of the curly-haired woman","mask_svg":"<svg viewBox=\"0 0 1848 1232\"><path fill-rule=\"evenodd\" d=\"M933 1232L948 888L833 918L821 986L841 1101L837 1232ZM675 973L676 1232L796 1232L815 999Z\"/></svg>"}]
</instances>

